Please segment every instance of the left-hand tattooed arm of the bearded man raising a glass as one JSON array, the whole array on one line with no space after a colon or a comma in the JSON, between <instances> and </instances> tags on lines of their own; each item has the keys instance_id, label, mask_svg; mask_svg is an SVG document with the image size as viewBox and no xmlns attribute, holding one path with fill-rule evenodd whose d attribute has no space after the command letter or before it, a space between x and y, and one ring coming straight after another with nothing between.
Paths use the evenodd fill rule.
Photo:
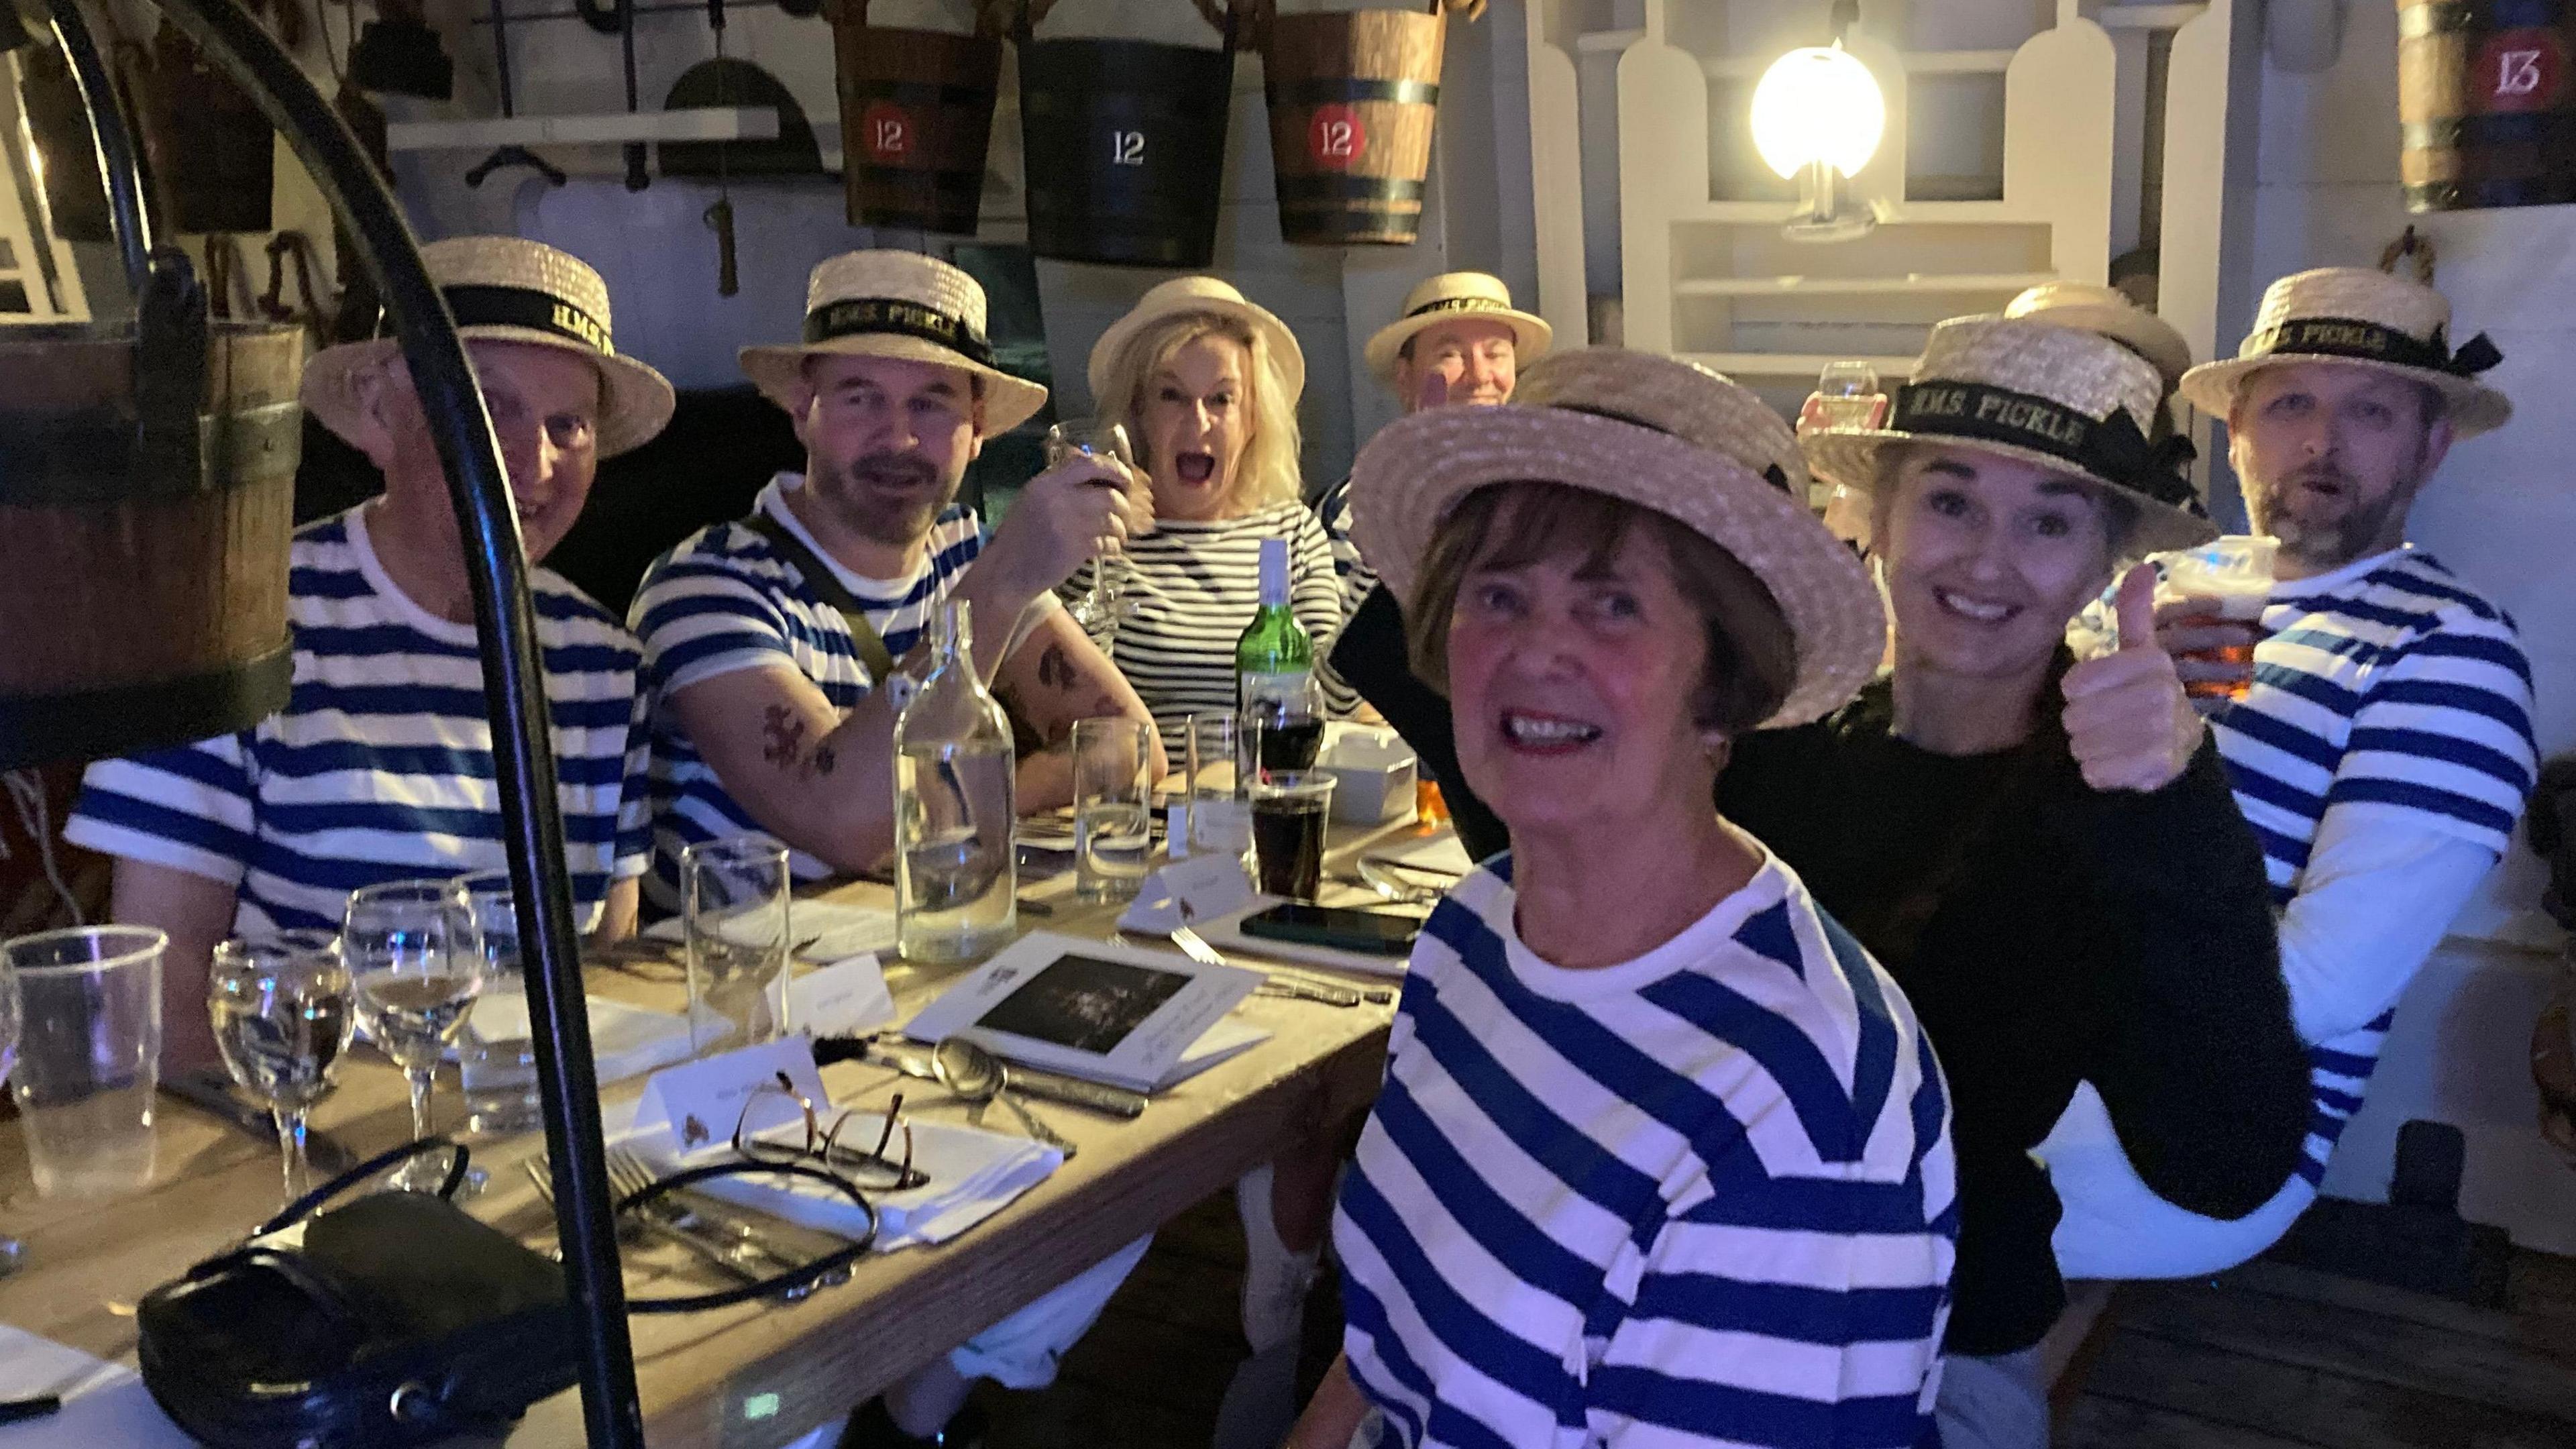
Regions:
<instances>
[{"instance_id":1,"label":"left-hand tattooed arm of the bearded man raising a glass","mask_svg":"<svg viewBox=\"0 0 2576 1449\"><path fill-rule=\"evenodd\" d=\"M791 665L762 665L665 699L724 792L788 846L837 871L894 848L894 709L871 691L848 717Z\"/></svg>"}]
</instances>

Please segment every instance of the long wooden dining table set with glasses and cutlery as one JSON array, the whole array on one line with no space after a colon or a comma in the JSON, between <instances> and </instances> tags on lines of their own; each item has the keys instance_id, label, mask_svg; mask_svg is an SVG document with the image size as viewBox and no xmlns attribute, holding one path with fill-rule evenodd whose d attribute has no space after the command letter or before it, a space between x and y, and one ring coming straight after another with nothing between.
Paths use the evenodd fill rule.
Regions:
<instances>
[{"instance_id":1,"label":"long wooden dining table set with glasses and cutlery","mask_svg":"<svg viewBox=\"0 0 2576 1449\"><path fill-rule=\"evenodd\" d=\"M1347 874L1363 851L1419 846L1435 828L1412 822L1334 828L1327 877ZM827 900L891 910L891 890L837 884ZM1072 877L1020 887L1023 931L1108 938L1115 905L1087 905ZM1376 902L1355 884L1327 884L1327 902ZM1131 944L1164 946L1157 936ZM1244 957L1247 967L1270 967ZM896 1018L935 998L971 967L914 967L889 954L886 985ZM1296 967L1303 975L1334 972ZM1345 985L1394 985L1345 975ZM670 964L590 964L592 995L662 1011L685 1008L685 985ZM1154 1093L1139 1119L1038 1101L1046 1122L1079 1152L1025 1196L940 1245L871 1253L848 1284L801 1302L750 1302L714 1312L631 1318L636 1385L654 1449L773 1449L835 1423L904 1374L940 1359L974 1333L1048 1289L1154 1232L1190 1204L1224 1189L1247 1168L1345 1127L1368 1109L1386 1060L1394 1006L1329 1006L1303 998L1252 995L1236 1018L1270 1031L1257 1047ZM644 1078L608 1083L603 1104L634 1098ZM840 1106L881 1106L907 1091L907 1114L963 1119L927 1083L871 1062L824 1067ZM453 1124L461 1104L453 1080L438 1091L438 1122ZM350 1152L371 1155L410 1134L402 1075L371 1055L348 1060L340 1088L314 1109L314 1132ZM98 1359L131 1361L134 1302L180 1276L273 1214L281 1201L273 1140L222 1124L211 1114L162 1098L155 1122L157 1171L149 1189L111 1199L41 1199L15 1119L0 1124L0 1232L26 1243L23 1269L0 1279L0 1325L18 1328ZM523 1171L541 1150L536 1134L474 1142L487 1181L469 1209L531 1245L551 1248L554 1220ZM629 1248L629 1294L724 1287L685 1258ZM10 1431L0 1428L0 1449ZM538 1403L510 1444L580 1444L577 1392Z\"/></svg>"}]
</instances>

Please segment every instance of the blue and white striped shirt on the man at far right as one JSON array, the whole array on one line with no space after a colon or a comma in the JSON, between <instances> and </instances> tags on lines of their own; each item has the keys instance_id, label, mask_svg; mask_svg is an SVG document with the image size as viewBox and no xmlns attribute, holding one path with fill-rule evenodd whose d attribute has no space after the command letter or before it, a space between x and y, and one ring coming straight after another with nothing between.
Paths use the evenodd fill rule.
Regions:
<instances>
[{"instance_id":1,"label":"blue and white striped shirt on the man at far right","mask_svg":"<svg viewBox=\"0 0 2576 1449\"><path fill-rule=\"evenodd\" d=\"M2277 905L2298 895L2326 812L2504 853L2540 750L2532 668L2501 608L2409 547L2282 583L2262 627L2254 686L2210 727ZM2360 1111L2393 1016L2311 1047L2308 1183Z\"/></svg>"}]
</instances>

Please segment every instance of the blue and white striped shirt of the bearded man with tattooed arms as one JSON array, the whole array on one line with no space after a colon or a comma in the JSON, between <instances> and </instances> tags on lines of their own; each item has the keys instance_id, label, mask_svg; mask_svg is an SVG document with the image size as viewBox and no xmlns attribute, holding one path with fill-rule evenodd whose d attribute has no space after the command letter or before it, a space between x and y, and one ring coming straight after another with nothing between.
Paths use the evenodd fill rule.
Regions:
<instances>
[{"instance_id":1,"label":"blue and white striped shirt of the bearded man with tattooed arms","mask_svg":"<svg viewBox=\"0 0 2576 1449\"><path fill-rule=\"evenodd\" d=\"M799 474L778 474L760 490L755 508L781 521L814 557L829 562L786 492L804 487ZM948 598L958 575L984 547L976 516L948 508L930 526L922 565L909 578L860 578L840 570L848 588L896 660L930 627L933 608ZM750 835L760 825L724 789L680 722L662 704L670 694L734 670L786 665L814 681L832 709L855 709L876 688L868 665L858 660L850 624L832 608L796 565L742 523L716 523L680 541L644 570L629 627L644 639L644 691L652 699L652 877L644 895L662 910L680 910L680 851L701 841ZM989 627L989 621L984 621ZM804 851L791 856L796 879L832 874Z\"/></svg>"}]
</instances>

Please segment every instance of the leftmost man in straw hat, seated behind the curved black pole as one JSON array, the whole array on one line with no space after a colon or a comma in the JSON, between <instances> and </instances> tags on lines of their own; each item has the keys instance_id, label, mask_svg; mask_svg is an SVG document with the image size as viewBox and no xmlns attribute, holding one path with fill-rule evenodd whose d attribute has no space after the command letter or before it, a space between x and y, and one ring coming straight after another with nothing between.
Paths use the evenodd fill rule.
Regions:
<instances>
[{"instance_id":1,"label":"leftmost man in straw hat, seated behind the curved black pole","mask_svg":"<svg viewBox=\"0 0 2576 1449\"><path fill-rule=\"evenodd\" d=\"M518 237L422 248L510 467L551 701L577 918L623 933L647 864L639 652L533 567L603 456L649 441L672 389L618 356L608 286ZM294 699L237 735L90 766L64 835L116 856L116 918L170 933L167 1057L211 1065L206 962L227 933L337 931L348 892L500 869L500 786L448 480L392 338L325 348L304 407L384 472L384 495L294 536Z\"/></svg>"}]
</instances>

